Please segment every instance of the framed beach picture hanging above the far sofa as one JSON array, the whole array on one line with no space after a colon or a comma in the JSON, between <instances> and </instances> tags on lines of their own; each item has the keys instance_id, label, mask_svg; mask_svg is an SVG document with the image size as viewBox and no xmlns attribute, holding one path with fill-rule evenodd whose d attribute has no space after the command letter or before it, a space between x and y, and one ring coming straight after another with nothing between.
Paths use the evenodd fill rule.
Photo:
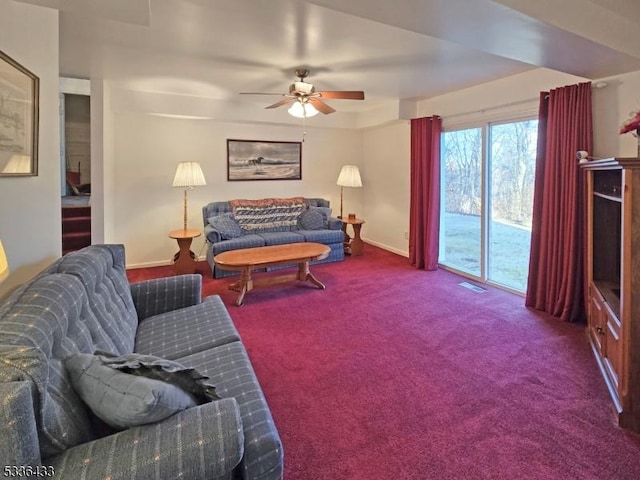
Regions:
<instances>
[{"instance_id":1,"label":"framed beach picture hanging above the far sofa","mask_svg":"<svg viewBox=\"0 0 640 480\"><path fill-rule=\"evenodd\" d=\"M301 180L302 142L227 140L227 180Z\"/></svg>"}]
</instances>

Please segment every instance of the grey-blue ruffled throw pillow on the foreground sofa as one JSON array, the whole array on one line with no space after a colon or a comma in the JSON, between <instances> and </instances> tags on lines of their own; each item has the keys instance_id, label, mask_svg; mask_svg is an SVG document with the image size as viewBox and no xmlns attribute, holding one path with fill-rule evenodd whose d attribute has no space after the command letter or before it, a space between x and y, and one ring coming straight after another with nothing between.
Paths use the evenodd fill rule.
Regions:
<instances>
[{"instance_id":1,"label":"grey-blue ruffled throw pillow on the foreground sofa","mask_svg":"<svg viewBox=\"0 0 640 480\"><path fill-rule=\"evenodd\" d=\"M93 413L116 429L158 422L219 398L194 369L151 355L74 354L64 360L71 384Z\"/></svg>"}]
</instances>

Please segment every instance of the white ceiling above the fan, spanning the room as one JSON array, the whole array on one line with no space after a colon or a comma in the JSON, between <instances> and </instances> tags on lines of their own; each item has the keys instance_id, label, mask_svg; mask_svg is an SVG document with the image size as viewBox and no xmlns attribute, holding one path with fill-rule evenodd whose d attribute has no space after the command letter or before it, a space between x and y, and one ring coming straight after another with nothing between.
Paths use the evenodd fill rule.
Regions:
<instances>
[{"instance_id":1,"label":"white ceiling above the fan, spanning the room","mask_svg":"<svg viewBox=\"0 0 640 480\"><path fill-rule=\"evenodd\" d=\"M428 98L537 67L597 79L640 70L638 0L16 0L57 8L60 74L255 103L294 70L364 90L340 112Z\"/></svg>"}]
</instances>

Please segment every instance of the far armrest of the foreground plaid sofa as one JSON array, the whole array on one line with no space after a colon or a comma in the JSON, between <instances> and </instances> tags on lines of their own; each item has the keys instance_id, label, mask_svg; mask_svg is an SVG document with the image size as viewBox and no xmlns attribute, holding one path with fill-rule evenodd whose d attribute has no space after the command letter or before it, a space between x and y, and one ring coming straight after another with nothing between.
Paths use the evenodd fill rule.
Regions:
<instances>
[{"instance_id":1,"label":"far armrest of the foreground plaid sofa","mask_svg":"<svg viewBox=\"0 0 640 480\"><path fill-rule=\"evenodd\" d=\"M202 277L198 274L176 275L131 284L131 296L138 321L196 305L202 301Z\"/></svg>"}]
</instances>

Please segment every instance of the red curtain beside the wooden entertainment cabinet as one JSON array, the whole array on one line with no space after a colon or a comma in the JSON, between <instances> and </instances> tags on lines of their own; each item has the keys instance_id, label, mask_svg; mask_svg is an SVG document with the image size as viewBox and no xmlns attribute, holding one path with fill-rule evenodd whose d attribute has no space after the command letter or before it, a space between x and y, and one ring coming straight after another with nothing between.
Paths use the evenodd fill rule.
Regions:
<instances>
[{"instance_id":1,"label":"red curtain beside the wooden entertainment cabinet","mask_svg":"<svg viewBox=\"0 0 640 480\"><path fill-rule=\"evenodd\" d=\"M525 304L565 321L584 311L584 176L576 152L592 144L591 83L543 92Z\"/></svg>"}]
</instances>

